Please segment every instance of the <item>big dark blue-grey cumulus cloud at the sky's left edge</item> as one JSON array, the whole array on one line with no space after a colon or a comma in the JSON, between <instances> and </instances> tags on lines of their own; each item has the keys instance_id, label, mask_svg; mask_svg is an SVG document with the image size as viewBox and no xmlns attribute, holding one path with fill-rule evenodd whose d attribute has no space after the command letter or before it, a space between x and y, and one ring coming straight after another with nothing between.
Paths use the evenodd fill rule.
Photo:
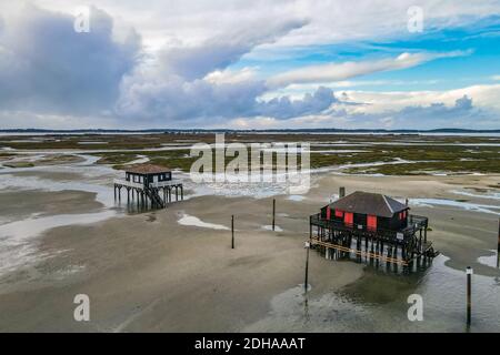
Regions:
<instances>
[{"instance_id":1,"label":"big dark blue-grey cumulus cloud at the sky's left edge","mask_svg":"<svg viewBox=\"0 0 500 355\"><path fill-rule=\"evenodd\" d=\"M89 114L109 110L122 75L134 65L140 39L113 39L112 19L91 8L91 31L74 18L27 6L3 19L0 32L0 104L6 110Z\"/></svg>"}]
</instances>

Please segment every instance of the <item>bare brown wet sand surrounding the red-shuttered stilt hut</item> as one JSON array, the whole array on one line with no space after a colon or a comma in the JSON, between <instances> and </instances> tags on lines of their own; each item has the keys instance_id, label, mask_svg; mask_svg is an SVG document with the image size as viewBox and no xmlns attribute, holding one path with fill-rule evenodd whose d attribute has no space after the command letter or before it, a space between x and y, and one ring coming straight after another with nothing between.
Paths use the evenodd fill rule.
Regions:
<instances>
[{"instance_id":1,"label":"bare brown wet sand surrounding the red-shuttered stilt hut","mask_svg":"<svg viewBox=\"0 0 500 355\"><path fill-rule=\"evenodd\" d=\"M0 331L397 332L404 327L374 320L364 327L357 324L359 318L367 317L364 312L369 312L368 318L378 315L377 318L387 320L394 314L404 318L406 297L421 287L428 276L401 278L353 262L327 261L312 251L311 318L303 314L300 284L309 214L324 205L339 186L346 186L348 193L364 190L408 196L412 213L430 217L429 240L446 255L431 271L446 268L460 277L463 268L471 265L478 277L493 280L499 277L498 270L479 263L478 257L491 255L490 250L497 245L497 214L412 205L411 199L467 199L483 203L484 199L450 191L470 187L467 191L494 192L489 186L498 180L494 175L326 175L314 180L301 201L277 196L277 225L282 232L263 229L271 224L272 197L198 196L161 211L118 215L88 225L58 226L38 236L38 253L47 257L0 276ZM63 193L72 197L57 201L62 211L77 197L76 192ZM236 250L230 247L230 231L180 225L178 220L184 214L228 227L234 214ZM433 280L430 278L430 284ZM456 284L461 285L460 278ZM384 291L380 285L388 286ZM439 285L432 287L440 291ZM498 284L491 287L499 295ZM73 297L80 293L90 297L91 322L73 320ZM341 295L348 295L348 301L340 300ZM354 302L360 295L360 303ZM497 312L498 307L490 310ZM438 307L439 312L447 315L446 307ZM453 313L450 324L454 324L454 316ZM431 320L408 329L461 331L460 326L446 322ZM491 320L487 317L486 322ZM498 322L492 331L500 331Z\"/></svg>"}]
</instances>

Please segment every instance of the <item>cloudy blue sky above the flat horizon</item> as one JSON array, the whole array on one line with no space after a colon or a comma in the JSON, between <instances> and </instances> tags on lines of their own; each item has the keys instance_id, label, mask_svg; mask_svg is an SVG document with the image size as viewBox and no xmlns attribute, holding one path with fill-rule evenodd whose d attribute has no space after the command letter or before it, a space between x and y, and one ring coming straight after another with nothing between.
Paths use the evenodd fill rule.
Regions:
<instances>
[{"instance_id":1,"label":"cloudy blue sky above the flat horizon","mask_svg":"<svg viewBox=\"0 0 500 355\"><path fill-rule=\"evenodd\" d=\"M0 0L0 129L500 129L500 0Z\"/></svg>"}]
</instances>

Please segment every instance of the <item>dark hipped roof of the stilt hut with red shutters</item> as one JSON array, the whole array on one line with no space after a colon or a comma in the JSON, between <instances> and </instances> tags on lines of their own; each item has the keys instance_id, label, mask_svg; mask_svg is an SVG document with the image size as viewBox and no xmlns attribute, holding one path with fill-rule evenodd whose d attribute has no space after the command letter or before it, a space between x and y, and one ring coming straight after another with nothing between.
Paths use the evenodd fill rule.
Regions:
<instances>
[{"instance_id":1,"label":"dark hipped roof of the stilt hut with red shutters","mask_svg":"<svg viewBox=\"0 0 500 355\"><path fill-rule=\"evenodd\" d=\"M408 206L380 193L356 191L346 197L332 202L330 209L391 217L394 213L407 210Z\"/></svg>"}]
</instances>

